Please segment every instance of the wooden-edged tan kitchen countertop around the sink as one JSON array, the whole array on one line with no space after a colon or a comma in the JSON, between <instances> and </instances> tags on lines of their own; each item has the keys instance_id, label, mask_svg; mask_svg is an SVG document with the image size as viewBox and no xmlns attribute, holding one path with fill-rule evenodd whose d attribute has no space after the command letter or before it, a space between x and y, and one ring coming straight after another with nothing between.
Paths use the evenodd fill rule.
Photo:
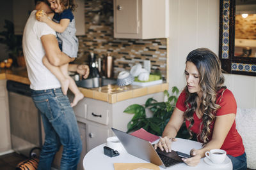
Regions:
<instances>
[{"instance_id":1,"label":"wooden-edged tan kitchen countertop around the sink","mask_svg":"<svg viewBox=\"0 0 256 170\"><path fill-rule=\"evenodd\" d=\"M1 69L0 80L4 79L17 81L28 85L30 84L26 68ZM108 103L116 103L135 97L145 96L147 94L163 92L164 90L168 90L168 83L161 83L159 85L152 85L148 87L140 87L138 85L128 85L125 87L108 85L93 89L79 87L79 90L81 90L81 92L84 94L84 97L106 101Z\"/></svg>"}]
</instances>

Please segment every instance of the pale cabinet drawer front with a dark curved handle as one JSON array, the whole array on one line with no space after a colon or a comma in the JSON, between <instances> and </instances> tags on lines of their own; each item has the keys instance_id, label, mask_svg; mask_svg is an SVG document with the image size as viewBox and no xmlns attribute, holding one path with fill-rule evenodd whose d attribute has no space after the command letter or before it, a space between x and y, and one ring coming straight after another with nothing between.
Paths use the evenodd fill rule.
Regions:
<instances>
[{"instance_id":1,"label":"pale cabinet drawer front with a dark curved handle","mask_svg":"<svg viewBox=\"0 0 256 170\"><path fill-rule=\"evenodd\" d=\"M87 119L99 124L108 125L109 110L102 110L102 108L91 108L87 112Z\"/></svg>"}]
</instances>

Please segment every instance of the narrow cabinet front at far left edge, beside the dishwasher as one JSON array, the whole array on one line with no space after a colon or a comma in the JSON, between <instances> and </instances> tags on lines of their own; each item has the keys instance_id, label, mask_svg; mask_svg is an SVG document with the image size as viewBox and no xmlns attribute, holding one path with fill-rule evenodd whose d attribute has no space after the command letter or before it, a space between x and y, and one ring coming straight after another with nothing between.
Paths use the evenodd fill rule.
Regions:
<instances>
[{"instance_id":1,"label":"narrow cabinet front at far left edge, beside the dishwasher","mask_svg":"<svg viewBox=\"0 0 256 170\"><path fill-rule=\"evenodd\" d=\"M10 117L6 80L0 80L0 152L12 149L10 137Z\"/></svg>"}]
</instances>

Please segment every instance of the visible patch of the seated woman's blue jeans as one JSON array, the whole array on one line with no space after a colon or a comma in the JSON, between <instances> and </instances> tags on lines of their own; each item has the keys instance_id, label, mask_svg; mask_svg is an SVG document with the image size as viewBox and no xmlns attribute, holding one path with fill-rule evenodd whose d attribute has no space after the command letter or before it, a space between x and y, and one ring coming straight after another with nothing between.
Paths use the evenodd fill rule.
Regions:
<instances>
[{"instance_id":1,"label":"visible patch of the seated woman's blue jeans","mask_svg":"<svg viewBox=\"0 0 256 170\"><path fill-rule=\"evenodd\" d=\"M246 170L247 162L246 162L246 153L238 157L233 157L231 155L227 155L233 164L233 170Z\"/></svg>"}]
</instances>

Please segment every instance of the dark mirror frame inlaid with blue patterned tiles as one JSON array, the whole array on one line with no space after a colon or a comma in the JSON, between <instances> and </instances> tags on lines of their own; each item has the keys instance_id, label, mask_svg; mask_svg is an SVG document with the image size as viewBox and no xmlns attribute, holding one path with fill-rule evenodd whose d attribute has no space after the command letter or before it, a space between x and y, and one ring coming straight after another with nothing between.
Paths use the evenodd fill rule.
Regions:
<instances>
[{"instance_id":1,"label":"dark mirror frame inlaid with blue patterned tiles","mask_svg":"<svg viewBox=\"0 0 256 170\"><path fill-rule=\"evenodd\" d=\"M256 76L256 58L234 57L236 1L220 0L219 56L224 73Z\"/></svg>"}]
</instances>

